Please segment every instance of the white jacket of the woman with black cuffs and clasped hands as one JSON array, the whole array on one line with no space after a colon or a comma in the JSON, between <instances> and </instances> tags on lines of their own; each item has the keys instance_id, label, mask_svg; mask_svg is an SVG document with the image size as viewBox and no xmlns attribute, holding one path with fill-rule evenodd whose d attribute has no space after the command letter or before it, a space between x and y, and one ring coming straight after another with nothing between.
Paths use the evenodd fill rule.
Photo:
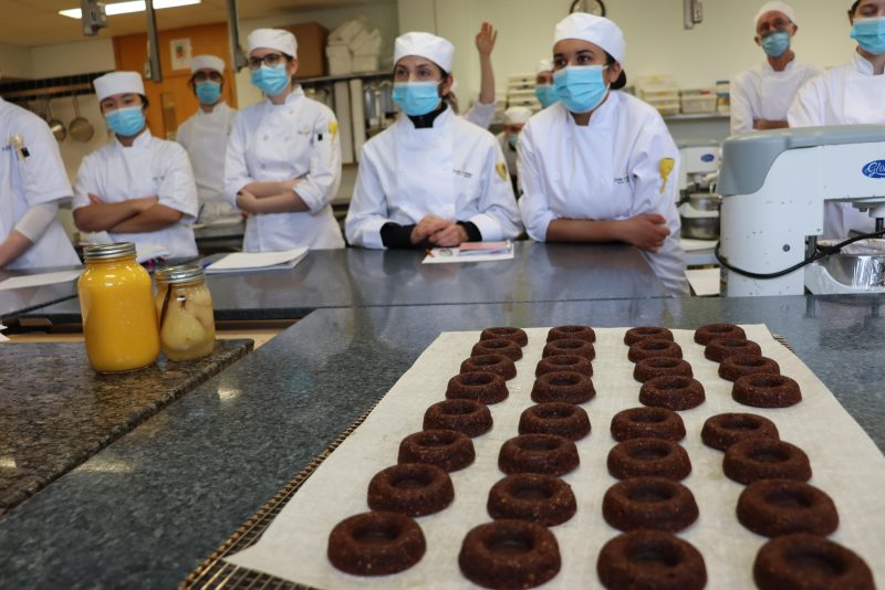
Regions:
<instances>
[{"instance_id":1,"label":"white jacket of the woman with black cuffs and clasped hands","mask_svg":"<svg viewBox=\"0 0 885 590\"><path fill-rule=\"evenodd\" d=\"M434 126L416 129L405 115L363 146L347 212L347 241L384 247L385 223L425 215L472 222L482 240L521 231L513 188L494 136L446 108Z\"/></svg>"}]
</instances>

